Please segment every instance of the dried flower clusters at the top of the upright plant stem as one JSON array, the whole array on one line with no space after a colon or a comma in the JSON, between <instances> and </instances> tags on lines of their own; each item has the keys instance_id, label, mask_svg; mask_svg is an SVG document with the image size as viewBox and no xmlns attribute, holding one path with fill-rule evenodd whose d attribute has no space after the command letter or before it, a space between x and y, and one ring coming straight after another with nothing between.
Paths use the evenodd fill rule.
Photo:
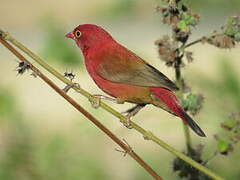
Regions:
<instances>
[{"instance_id":1,"label":"dried flower clusters at the top of the upright plant stem","mask_svg":"<svg viewBox=\"0 0 240 180\"><path fill-rule=\"evenodd\" d=\"M172 38L164 36L157 40L160 59L167 66L178 67L184 66L182 58L187 62L193 61L193 53L182 51L181 48L187 42L191 30L199 23L200 16L194 14L181 0L165 0L166 6L158 6L157 11L162 15L162 22L168 24L172 29Z\"/></svg>"}]
</instances>

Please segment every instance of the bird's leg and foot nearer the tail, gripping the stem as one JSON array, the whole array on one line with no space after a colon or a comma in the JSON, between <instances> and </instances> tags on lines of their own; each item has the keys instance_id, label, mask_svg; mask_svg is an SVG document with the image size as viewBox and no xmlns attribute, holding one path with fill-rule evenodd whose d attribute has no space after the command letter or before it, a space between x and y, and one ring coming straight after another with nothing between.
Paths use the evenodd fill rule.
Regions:
<instances>
[{"instance_id":1,"label":"bird's leg and foot nearer the tail, gripping the stem","mask_svg":"<svg viewBox=\"0 0 240 180\"><path fill-rule=\"evenodd\" d=\"M132 129L131 125L130 125L130 120L133 116L135 116L142 108L144 108L146 106L146 104L138 104L130 109L128 109L127 111L123 112L122 114L126 114L125 117L127 118L127 122L122 122L123 125L125 127L127 127L128 129Z\"/></svg>"}]
</instances>

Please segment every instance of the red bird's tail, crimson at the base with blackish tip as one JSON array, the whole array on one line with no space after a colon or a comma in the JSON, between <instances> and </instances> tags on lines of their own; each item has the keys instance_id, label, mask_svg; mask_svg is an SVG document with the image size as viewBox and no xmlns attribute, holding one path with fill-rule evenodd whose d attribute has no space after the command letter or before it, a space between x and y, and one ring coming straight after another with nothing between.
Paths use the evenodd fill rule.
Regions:
<instances>
[{"instance_id":1,"label":"red bird's tail, crimson at the base with blackish tip","mask_svg":"<svg viewBox=\"0 0 240 180\"><path fill-rule=\"evenodd\" d=\"M165 88L151 88L151 92L161 100L174 114L187 123L191 129L199 136L205 137L203 130L193 121L193 119L183 110L176 95Z\"/></svg>"}]
</instances>

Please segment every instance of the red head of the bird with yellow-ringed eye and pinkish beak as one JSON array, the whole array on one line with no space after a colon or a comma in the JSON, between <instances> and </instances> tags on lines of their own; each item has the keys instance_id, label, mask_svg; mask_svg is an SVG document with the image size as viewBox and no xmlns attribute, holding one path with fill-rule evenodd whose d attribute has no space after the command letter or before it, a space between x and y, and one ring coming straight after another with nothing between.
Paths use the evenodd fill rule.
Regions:
<instances>
[{"instance_id":1,"label":"red head of the bird with yellow-ringed eye and pinkish beak","mask_svg":"<svg viewBox=\"0 0 240 180\"><path fill-rule=\"evenodd\" d=\"M108 32L94 24L79 25L73 31L66 34L66 37L75 40L83 51L113 40Z\"/></svg>"}]
</instances>

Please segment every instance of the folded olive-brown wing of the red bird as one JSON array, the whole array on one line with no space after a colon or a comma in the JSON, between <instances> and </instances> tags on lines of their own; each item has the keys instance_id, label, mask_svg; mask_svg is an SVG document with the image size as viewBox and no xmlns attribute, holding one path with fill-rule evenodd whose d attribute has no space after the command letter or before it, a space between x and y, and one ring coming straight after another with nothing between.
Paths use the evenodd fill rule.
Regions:
<instances>
[{"instance_id":1,"label":"folded olive-brown wing of the red bird","mask_svg":"<svg viewBox=\"0 0 240 180\"><path fill-rule=\"evenodd\" d=\"M101 59L95 71L108 81L178 90L163 73L125 48L108 51Z\"/></svg>"}]
</instances>

